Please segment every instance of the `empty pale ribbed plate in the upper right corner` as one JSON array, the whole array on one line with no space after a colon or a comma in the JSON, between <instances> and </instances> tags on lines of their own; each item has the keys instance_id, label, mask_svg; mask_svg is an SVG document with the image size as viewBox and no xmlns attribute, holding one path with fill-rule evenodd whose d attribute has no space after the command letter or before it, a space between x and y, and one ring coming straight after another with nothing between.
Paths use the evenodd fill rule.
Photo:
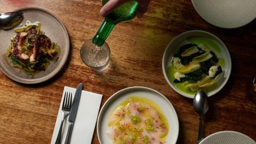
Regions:
<instances>
[{"instance_id":1,"label":"empty pale ribbed plate in the upper right corner","mask_svg":"<svg viewBox=\"0 0 256 144\"><path fill-rule=\"evenodd\" d=\"M197 13L221 28L238 28L256 18L256 0L191 0Z\"/></svg>"}]
</instances>

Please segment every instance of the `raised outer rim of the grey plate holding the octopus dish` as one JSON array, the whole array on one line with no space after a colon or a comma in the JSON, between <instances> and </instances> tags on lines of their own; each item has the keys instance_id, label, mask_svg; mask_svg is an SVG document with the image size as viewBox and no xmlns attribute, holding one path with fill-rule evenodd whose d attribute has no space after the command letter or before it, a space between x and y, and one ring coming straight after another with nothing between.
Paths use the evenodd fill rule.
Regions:
<instances>
[{"instance_id":1,"label":"raised outer rim of the grey plate holding the octopus dish","mask_svg":"<svg viewBox=\"0 0 256 144\"><path fill-rule=\"evenodd\" d=\"M52 71L52 73L50 73L49 75L47 76L44 76L44 77L41 77L41 78L37 78L37 79L24 79L24 78L19 78L19 77L15 77L13 75L9 75L9 72L6 73L6 71L0 66L0 70L7 76L9 77L10 79L12 79L13 81L15 82L18 82L18 83L22 83L22 84L38 84L38 83L43 83L45 81L48 81L49 79L51 79L52 77L54 77L55 75L57 75L58 73L60 73L60 71L63 69L65 63L67 62L68 60L68 55L69 55L69 51L70 51L70 37L68 35L68 31L66 29L66 27L63 25L63 23L60 21L60 19L54 15L53 13L51 13L50 11L48 10L45 10L45 9L42 9L40 7L22 7L20 9L17 9L15 11L22 11L22 10L29 10L29 9L35 9L35 10L39 10L39 11L43 11L49 15L51 15L54 19L56 19L61 27L64 29L64 33L65 35L68 37L68 49L67 49L67 52L65 53L65 55L63 55L63 61L59 64L59 66Z\"/></svg>"}]
</instances>

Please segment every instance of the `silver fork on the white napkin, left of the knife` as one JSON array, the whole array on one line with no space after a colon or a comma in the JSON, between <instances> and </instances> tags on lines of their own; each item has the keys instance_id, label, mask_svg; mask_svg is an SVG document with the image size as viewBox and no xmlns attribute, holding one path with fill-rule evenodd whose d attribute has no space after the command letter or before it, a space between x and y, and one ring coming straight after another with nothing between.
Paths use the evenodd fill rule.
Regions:
<instances>
[{"instance_id":1,"label":"silver fork on the white napkin, left of the knife","mask_svg":"<svg viewBox=\"0 0 256 144\"><path fill-rule=\"evenodd\" d=\"M55 144L60 144L61 143L62 125L63 125L63 122L64 122L65 118L69 115L69 111L71 109L71 106L72 106L72 93L70 94L70 92L65 92L65 97L63 99L62 108L61 108L61 110L62 110L62 120L61 120L60 130L59 130L58 137L56 139Z\"/></svg>"}]
</instances>

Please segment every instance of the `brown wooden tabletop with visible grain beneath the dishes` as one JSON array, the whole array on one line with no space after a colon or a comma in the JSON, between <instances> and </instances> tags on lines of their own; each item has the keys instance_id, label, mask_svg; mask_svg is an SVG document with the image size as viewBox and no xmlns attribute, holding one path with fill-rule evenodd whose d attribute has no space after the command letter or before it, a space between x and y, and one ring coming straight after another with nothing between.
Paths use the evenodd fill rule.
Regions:
<instances>
[{"instance_id":1,"label":"brown wooden tabletop with visible grain beneath the dishes","mask_svg":"<svg viewBox=\"0 0 256 144\"><path fill-rule=\"evenodd\" d=\"M131 22L119 23L107 39L111 66L97 74L82 62L79 52L92 38L103 18L100 1L0 1L0 12L36 6L57 15L66 26L70 56L65 69L38 85L13 82L0 72L0 143L50 143L63 87L84 84L87 91L103 94L103 103L116 91L129 86L147 86L169 99L177 111L180 132L177 143L196 143L198 115L192 100L171 89L162 72L166 45L180 33L201 29L217 35L227 45L233 61L227 85L210 98L205 117L205 135L233 130L256 140L256 104L246 94L256 75L256 21L238 29L221 29L205 22L188 0L153 0L148 12ZM99 143L96 132L92 143Z\"/></svg>"}]
</instances>

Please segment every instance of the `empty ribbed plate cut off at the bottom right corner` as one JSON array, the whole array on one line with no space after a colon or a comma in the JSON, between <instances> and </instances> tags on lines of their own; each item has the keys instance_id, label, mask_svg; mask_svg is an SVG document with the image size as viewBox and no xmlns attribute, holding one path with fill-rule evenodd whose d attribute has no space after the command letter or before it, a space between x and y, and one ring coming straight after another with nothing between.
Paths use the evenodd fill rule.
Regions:
<instances>
[{"instance_id":1,"label":"empty ribbed plate cut off at the bottom right corner","mask_svg":"<svg viewBox=\"0 0 256 144\"><path fill-rule=\"evenodd\" d=\"M243 133L235 131L221 131L213 133L199 144L255 144L256 142Z\"/></svg>"}]
</instances>

